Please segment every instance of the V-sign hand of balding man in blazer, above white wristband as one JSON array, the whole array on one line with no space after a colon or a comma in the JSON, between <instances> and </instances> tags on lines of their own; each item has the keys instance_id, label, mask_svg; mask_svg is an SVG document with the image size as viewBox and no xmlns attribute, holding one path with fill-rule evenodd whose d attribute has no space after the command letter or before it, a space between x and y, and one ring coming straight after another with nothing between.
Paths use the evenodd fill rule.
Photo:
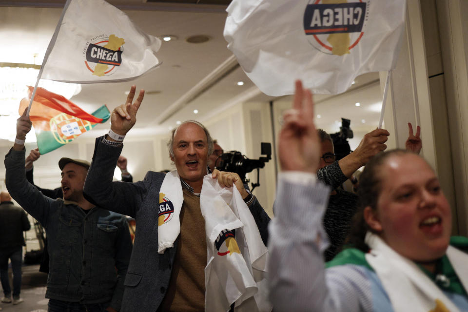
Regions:
<instances>
[{"instance_id":1,"label":"V-sign hand of balding man in blazer, above white wristband","mask_svg":"<svg viewBox=\"0 0 468 312\"><path fill-rule=\"evenodd\" d=\"M140 90L137 99L132 104L136 89L137 87L133 85L130 88L130 93L128 94L125 104L117 106L112 111L111 130L118 135L125 136L127 132L135 125L135 122L137 122L137 111L141 105L143 97L145 96L145 90Z\"/></svg>"}]
</instances>

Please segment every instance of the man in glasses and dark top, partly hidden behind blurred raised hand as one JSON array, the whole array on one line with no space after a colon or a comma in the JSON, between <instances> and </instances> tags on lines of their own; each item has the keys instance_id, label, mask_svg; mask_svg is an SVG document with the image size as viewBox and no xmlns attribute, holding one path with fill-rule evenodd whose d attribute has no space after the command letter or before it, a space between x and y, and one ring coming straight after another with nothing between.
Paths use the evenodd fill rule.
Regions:
<instances>
[{"instance_id":1,"label":"man in glasses and dark top, partly hidden behind blurred raised hand","mask_svg":"<svg viewBox=\"0 0 468 312\"><path fill-rule=\"evenodd\" d=\"M344 191L339 186L357 169L364 166L370 158L387 148L384 143L387 141L389 132L385 129L376 129L366 134L354 152L339 161L336 161L330 135L322 129L318 129L317 132L321 141L320 153L322 155L317 176L333 188L323 218L323 225L330 239L330 246L324 256L325 261L330 261L345 242L351 219L357 208L357 195Z\"/></svg>"}]
</instances>

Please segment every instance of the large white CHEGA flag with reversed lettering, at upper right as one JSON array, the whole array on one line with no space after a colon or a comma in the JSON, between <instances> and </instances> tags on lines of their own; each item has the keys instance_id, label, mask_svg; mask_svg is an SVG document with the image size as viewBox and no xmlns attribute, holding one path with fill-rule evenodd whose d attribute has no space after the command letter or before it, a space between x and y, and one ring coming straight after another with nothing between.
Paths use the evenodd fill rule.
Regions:
<instances>
[{"instance_id":1,"label":"large white CHEGA flag with reversed lettering, at upper right","mask_svg":"<svg viewBox=\"0 0 468 312\"><path fill-rule=\"evenodd\" d=\"M361 74L395 67L406 0L233 0L224 37L270 96L345 92Z\"/></svg>"}]
</instances>

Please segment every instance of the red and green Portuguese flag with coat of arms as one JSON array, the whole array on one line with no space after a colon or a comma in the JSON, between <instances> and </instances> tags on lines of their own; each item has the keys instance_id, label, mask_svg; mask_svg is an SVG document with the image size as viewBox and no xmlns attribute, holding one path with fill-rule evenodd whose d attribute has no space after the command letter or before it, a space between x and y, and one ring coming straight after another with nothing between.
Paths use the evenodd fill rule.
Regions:
<instances>
[{"instance_id":1,"label":"red and green Portuguese flag with coat of arms","mask_svg":"<svg viewBox=\"0 0 468 312\"><path fill-rule=\"evenodd\" d=\"M28 88L31 94L34 88ZM20 103L20 115L28 105L29 99L23 98ZM67 98L40 87L36 90L29 112L41 155L70 143L98 123L106 122L110 116L111 113L105 105L88 114Z\"/></svg>"}]
</instances>

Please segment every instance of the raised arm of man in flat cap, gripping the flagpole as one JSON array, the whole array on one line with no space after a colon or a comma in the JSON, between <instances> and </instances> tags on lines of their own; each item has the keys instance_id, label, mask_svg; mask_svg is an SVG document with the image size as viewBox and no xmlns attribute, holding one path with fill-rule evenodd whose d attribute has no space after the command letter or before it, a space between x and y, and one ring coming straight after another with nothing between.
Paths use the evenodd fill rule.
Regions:
<instances>
[{"instance_id":1,"label":"raised arm of man in flat cap, gripping the flagpole","mask_svg":"<svg viewBox=\"0 0 468 312\"><path fill-rule=\"evenodd\" d=\"M45 197L31 183L26 180L24 170L24 140L31 130L31 120L26 116L27 109L18 119L17 135L13 148L5 156L5 184L11 197L18 204L47 228L52 199Z\"/></svg>"}]
</instances>

